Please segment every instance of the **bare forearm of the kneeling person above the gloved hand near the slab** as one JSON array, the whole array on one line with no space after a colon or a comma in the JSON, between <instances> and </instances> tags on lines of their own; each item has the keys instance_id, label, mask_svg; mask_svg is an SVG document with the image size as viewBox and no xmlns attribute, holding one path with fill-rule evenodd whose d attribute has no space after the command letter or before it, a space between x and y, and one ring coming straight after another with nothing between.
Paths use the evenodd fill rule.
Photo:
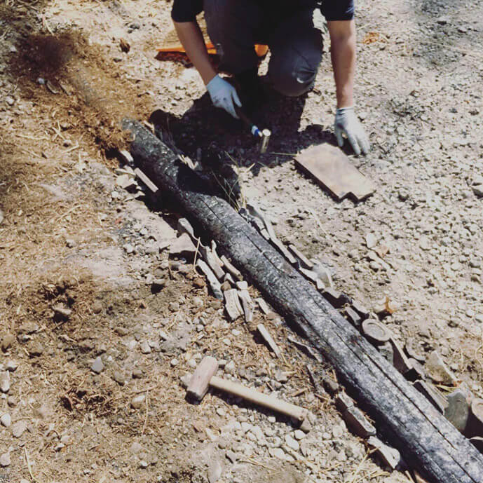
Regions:
<instances>
[{"instance_id":1,"label":"bare forearm of the kneeling person above the gloved hand near the slab","mask_svg":"<svg viewBox=\"0 0 483 483\"><path fill-rule=\"evenodd\" d=\"M337 107L351 107L354 104L355 23L351 20L328 22L328 25Z\"/></svg>"}]
</instances>

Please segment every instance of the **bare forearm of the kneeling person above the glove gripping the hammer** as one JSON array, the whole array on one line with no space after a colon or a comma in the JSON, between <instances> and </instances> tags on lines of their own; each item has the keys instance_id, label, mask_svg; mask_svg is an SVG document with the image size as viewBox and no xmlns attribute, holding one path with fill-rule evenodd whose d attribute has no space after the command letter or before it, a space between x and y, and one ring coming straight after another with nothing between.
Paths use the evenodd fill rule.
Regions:
<instances>
[{"instance_id":1,"label":"bare forearm of the kneeling person above the glove gripping the hammer","mask_svg":"<svg viewBox=\"0 0 483 483\"><path fill-rule=\"evenodd\" d=\"M196 70L200 73L205 86L217 75L213 68L205 46L205 40L197 22L174 22L179 41L193 62Z\"/></svg>"}]
</instances>

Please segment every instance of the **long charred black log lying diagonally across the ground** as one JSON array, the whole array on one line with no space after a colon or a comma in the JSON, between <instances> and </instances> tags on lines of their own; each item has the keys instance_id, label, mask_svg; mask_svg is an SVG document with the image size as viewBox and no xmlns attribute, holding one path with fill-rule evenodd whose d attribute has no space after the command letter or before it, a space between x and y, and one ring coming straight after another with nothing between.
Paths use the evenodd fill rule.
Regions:
<instances>
[{"instance_id":1,"label":"long charred black log lying diagonally across the ground","mask_svg":"<svg viewBox=\"0 0 483 483\"><path fill-rule=\"evenodd\" d=\"M136 121L135 163L179 212L231 258L287 323L336 369L339 381L403 458L437 483L483 483L483 456L225 200Z\"/></svg>"}]
</instances>

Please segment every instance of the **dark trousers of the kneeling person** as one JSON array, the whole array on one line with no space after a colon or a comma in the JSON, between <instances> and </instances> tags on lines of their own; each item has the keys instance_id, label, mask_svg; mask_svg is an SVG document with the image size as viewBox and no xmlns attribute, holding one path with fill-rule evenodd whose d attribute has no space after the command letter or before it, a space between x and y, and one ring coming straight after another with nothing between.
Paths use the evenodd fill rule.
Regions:
<instances>
[{"instance_id":1,"label":"dark trousers of the kneeling person","mask_svg":"<svg viewBox=\"0 0 483 483\"><path fill-rule=\"evenodd\" d=\"M222 69L241 74L257 67L255 43L271 51L268 79L283 95L313 87L322 59L322 32L313 24L315 1L204 0L210 39Z\"/></svg>"}]
</instances>

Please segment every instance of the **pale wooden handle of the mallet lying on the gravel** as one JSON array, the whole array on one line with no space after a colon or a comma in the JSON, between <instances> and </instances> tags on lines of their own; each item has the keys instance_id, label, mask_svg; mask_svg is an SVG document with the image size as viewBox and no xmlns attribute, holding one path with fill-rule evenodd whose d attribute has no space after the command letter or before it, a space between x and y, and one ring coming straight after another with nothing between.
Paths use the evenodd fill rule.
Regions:
<instances>
[{"instance_id":1,"label":"pale wooden handle of the mallet lying on the gravel","mask_svg":"<svg viewBox=\"0 0 483 483\"><path fill-rule=\"evenodd\" d=\"M233 381L227 381L218 376L213 376L210 380L210 386L215 389L222 390L226 393L230 393L243 399L259 404L260 406L267 407L273 411L277 411L298 421L304 421L307 416L307 409L303 407L295 406L290 402L277 399L276 397L269 396L264 393L260 393L258 390L247 388L242 384L238 384Z\"/></svg>"}]
</instances>

